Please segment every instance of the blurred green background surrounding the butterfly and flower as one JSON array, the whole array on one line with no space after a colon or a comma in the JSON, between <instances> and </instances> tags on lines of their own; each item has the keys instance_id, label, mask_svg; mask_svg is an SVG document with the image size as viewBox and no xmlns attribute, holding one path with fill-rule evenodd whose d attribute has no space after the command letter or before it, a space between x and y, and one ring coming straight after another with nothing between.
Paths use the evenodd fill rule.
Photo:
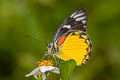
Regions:
<instances>
[{"instance_id":1,"label":"blurred green background surrounding the butterfly and flower","mask_svg":"<svg viewBox=\"0 0 120 80\"><path fill-rule=\"evenodd\" d=\"M25 74L76 8L87 10L93 51L71 80L120 80L120 0L0 0L0 80L34 80Z\"/></svg>"}]
</instances>

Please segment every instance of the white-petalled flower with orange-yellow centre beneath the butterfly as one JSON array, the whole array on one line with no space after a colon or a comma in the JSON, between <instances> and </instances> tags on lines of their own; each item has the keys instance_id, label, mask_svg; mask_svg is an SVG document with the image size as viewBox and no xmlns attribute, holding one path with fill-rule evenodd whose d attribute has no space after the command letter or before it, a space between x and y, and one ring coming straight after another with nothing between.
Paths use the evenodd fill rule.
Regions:
<instances>
[{"instance_id":1,"label":"white-petalled flower with orange-yellow centre beneath the butterfly","mask_svg":"<svg viewBox=\"0 0 120 80\"><path fill-rule=\"evenodd\" d=\"M29 74L25 75L26 77L29 76L34 76L35 78L38 78L37 75L40 74L42 75L42 79L46 80L46 74L45 72L53 72L56 74L59 74L59 68L54 67L54 63L52 60L41 60L40 62L37 63L38 67L35 68L32 72Z\"/></svg>"}]
</instances>

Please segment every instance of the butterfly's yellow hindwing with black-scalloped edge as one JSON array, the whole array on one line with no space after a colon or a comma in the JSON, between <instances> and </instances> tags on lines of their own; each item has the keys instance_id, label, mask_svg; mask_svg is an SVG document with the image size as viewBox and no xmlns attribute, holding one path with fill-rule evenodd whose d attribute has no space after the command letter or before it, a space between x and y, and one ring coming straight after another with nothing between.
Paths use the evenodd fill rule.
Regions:
<instances>
[{"instance_id":1,"label":"butterfly's yellow hindwing with black-scalloped edge","mask_svg":"<svg viewBox=\"0 0 120 80\"><path fill-rule=\"evenodd\" d=\"M64 36L67 36L64 39L64 42L58 46L59 50L56 53L56 56L60 59L67 61L74 59L77 65L85 64L91 56L91 41L86 32L75 31L68 34L64 34L56 42L56 44Z\"/></svg>"}]
</instances>

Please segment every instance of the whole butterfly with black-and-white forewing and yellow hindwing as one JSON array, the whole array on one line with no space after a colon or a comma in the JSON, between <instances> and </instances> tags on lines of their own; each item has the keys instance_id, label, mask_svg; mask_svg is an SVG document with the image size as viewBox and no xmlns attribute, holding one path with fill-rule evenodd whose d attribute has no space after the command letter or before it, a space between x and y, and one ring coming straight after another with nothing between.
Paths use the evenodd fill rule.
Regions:
<instances>
[{"instance_id":1,"label":"whole butterfly with black-and-white forewing and yellow hindwing","mask_svg":"<svg viewBox=\"0 0 120 80\"><path fill-rule=\"evenodd\" d=\"M92 50L91 40L86 33L87 21L84 8L73 11L59 26L52 42L48 44L48 54L64 61L73 59L77 65L85 64Z\"/></svg>"}]
</instances>

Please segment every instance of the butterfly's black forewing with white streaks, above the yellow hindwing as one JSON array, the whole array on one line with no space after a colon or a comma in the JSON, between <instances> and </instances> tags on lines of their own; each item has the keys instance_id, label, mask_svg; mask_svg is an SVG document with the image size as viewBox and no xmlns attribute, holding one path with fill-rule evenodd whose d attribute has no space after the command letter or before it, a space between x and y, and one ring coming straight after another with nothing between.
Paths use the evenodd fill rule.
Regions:
<instances>
[{"instance_id":1,"label":"butterfly's black forewing with white streaks, above the yellow hindwing","mask_svg":"<svg viewBox=\"0 0 120 80\"><path fill-rule=\"evenodd\" d=\"M53 42L69 30L86 31L87 15L84 8L78 8L68 16L55 33Z\"/></svg>"}]
</instances>

